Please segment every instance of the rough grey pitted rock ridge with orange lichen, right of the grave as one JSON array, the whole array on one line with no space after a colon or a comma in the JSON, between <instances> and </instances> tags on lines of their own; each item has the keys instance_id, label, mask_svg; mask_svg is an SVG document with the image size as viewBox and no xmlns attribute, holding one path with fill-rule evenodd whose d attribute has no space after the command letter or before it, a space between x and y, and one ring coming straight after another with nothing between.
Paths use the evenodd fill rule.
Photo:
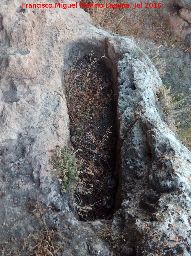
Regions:
<instances>
[{"instance_id":1,"label":"rough grey pitted rock ridge with orange lichen, right of the grave","mask_svg":"<svg viewBox=\"0 0 191 256\"><path fill-rule=\"evenodd\" d=\"M162 83L149 66L130 54L118 61L122 202L113 228L131 239L124 255L189 255L191 154L160 119L153 88Z\"/></svg>"}]
</instances>

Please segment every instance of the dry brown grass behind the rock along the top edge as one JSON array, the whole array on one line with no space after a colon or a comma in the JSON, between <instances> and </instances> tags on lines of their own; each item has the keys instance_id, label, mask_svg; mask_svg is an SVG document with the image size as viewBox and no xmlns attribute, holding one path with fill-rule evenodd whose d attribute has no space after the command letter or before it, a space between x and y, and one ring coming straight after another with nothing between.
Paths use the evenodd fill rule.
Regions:
<instances>
[{"instance_id":1,"label":"dry brown grass behind the rock along the top edge","mask_svg":"<svg viewBox=\"0 0 191 256\"><path fill-rule=\"evenodd\" d=\"M94 21L95 26L102 26L105 30L125 36L133 36L136 40L140 36L146 36L157 43L165 45L180 45L180 38L174 36L170 26L168 15L163 13L162 8L142 8L135 10L129 8L105 8L106 0L102 3L104 8L85 8ZM92 3L87 0L86 3ZM110 2L107 2L109 5ZM112 3L112 2L111 2ZM122 4L128 1L117 0L115 3Z\"/></svg>"}]
</instances>

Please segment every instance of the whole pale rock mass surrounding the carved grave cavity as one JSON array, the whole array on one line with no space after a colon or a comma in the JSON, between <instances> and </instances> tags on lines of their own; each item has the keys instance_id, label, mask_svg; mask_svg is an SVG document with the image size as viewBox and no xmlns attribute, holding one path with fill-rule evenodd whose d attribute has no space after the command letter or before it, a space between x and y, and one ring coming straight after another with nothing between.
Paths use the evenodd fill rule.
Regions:
<instances>
[{"instance_id":1,"label":"whole pale rock mass surrounding the carved grave cavity","mask_svg":"<svg viewBox=\"0 0 191 256\"><path fill-rule=\"evenodd\" d=\"M95 28L79 7L23 9L15 0L0 3L0 43L0 241L36 233L31 209L42 204L63 238L58 255L115 255L97 236L108 227L111 241L123 236L117 255L189 255L191 154L160 119L162 81L133 38ZM112 71L120 185L112 220L80 222L49 159L70 140L64 75L92 49Z\"/></svg>"}]
</instances>

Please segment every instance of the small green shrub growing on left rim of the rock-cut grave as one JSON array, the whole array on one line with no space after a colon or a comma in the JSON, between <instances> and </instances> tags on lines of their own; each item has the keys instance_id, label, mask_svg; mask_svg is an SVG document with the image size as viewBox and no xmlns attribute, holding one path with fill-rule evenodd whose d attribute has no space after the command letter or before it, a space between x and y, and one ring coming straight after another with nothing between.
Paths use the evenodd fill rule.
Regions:
<instances>
[{"instance_id":1,"label":"small green shrub growing on left rim of the rock-cut grave","mask_svg":"<svg viewBox=\"0 0 191 256\"><path fill-rule=\"evenodd\" d=\"M69 149L57 149L57 152L50 160L53 170L57 173L57 180L62 186L62 192L68 188L74 190L79 182L81 165Z\"/></svg>"}]
</instances>

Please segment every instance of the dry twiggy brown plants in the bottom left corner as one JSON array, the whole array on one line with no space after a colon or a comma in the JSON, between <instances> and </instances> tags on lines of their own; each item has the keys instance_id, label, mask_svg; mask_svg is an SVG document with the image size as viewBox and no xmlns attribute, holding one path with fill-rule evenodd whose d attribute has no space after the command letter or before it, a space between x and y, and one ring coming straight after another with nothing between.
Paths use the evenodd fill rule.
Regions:
<instances>
[{"instance_id":1,"label":"dry twiggy brown plants in the bottom left corner","mask_svg":"<svg viewBox=\"0 0 191 256\"><path fill-rule=\"evenodd\" d=\"M49 228L45 221L45 214L51 209L36 201L31 207L33 219L36 221L37 231L30 233L27 238L15 240L12 237L0 245L0 255L2 256L56 256L62 252L62 237L59 232Z\"/></svg>"}]
</instances>

